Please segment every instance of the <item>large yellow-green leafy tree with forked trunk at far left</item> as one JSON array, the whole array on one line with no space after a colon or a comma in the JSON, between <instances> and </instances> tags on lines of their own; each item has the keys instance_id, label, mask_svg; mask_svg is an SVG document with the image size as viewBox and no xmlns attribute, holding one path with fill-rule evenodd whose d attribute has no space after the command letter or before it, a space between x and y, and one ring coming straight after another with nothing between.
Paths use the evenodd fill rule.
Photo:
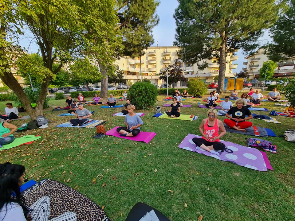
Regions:
<instances>
[{"instance_id":1,"label":"large yellow-green leafy tree with forked trunk at far left","mask_svg":"<svg viewBox=\"0 0 295 221\"><path fill-rule=\"evenodd\" d=\"M114 32L114 27L118 23L113 0L0 1L0 78L18 95L32 119L43 114L42 107L49 82L66 62L75 56L84 56L91 50L96 52L101 62L108 62L107 46L112 44L107 45L106 39ZM13 64L11 55L17 54L16 49L10 46L14 37L17 39L18 35L22 34L23 24L33 33L43 65L51 72L42 72L43 81L35 109L31 107L28 96L10 71L10 65ZM112 38L109 42L112 42ZM18 49L18 57L22 56L20 51ZM54 62L58 62L55 69Z\"/></svg>"}]
</instances>

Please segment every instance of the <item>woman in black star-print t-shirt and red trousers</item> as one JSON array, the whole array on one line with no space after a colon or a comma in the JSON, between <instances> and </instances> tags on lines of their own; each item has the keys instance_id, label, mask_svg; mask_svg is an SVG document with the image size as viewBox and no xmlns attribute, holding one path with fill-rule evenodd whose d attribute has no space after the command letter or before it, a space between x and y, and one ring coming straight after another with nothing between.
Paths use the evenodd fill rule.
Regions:
<instances>
[{"instance_id":1,"label":"woman in black star-print t-shirt and red trousers","mask_svg":"<svg viewBox=\"0 0 295 221\"><path fill-rule=\"evenodd\" d=\"M243 107L246 104L244 99L240 98L236 100L235 103L237 107L232 107L227 111L225 116L230 119L224 119L224 123L235 130L246 132L245 128L252 126L252 122L246 120L252 119L253 116L248 108ZM230 114L232 116L230 116ZM246 115L248 115L247 118Z\"/></svg>"}]
</instances>

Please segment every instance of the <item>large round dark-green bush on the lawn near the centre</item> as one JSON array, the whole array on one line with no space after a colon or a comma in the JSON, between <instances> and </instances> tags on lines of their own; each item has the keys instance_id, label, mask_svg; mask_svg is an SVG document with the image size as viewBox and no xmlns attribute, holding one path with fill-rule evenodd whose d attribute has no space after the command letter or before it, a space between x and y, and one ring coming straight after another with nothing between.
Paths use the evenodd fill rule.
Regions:
<instances>
[{"instance_id":1,"label":"large round dark-green bush on the lawn near the centre","mask_svg":"<svg viewBox=\"0 0 295 221\"><path fill-rule=\"evenodd\" d=\"M129 88L128 98L137 109L147 109L157 101L157 88L151 83L136 82Z\"/></svg>"}]
</instances>

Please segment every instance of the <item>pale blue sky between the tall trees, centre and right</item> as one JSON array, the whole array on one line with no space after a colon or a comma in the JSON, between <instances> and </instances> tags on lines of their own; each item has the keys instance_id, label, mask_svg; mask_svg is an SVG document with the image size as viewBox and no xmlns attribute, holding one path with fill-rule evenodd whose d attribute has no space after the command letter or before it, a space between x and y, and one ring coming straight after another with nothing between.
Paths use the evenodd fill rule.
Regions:
<instances>
[{"instance_id":1,"label":"pale blue sky between the tall trees, centre and right","mask_svg":"<svg viewBox=\"0 0 295 221\"><path fill-rule=\"evenodd\" d=\"M157 8L156 13L158 14L160 21L157 26L153 29L153 36L155 43L152 46L172 46L175 41L176 34L176 24L175 19L173 18L173 14L175 12L175 8L177 8L179 2L177 0L160 0L160 5ZM270 41L269 33L266 32L264 36L259 38L258 40L265 44L267 41ZM233 72L239 73L242 71L243 62L247 61L244 59L246 55L242 54L242 50L240 49L236 52L236 55L239 56L238 60L234 61L234 64L238 64L236 69L233 69Z\"/></svg>"}]
</instances>

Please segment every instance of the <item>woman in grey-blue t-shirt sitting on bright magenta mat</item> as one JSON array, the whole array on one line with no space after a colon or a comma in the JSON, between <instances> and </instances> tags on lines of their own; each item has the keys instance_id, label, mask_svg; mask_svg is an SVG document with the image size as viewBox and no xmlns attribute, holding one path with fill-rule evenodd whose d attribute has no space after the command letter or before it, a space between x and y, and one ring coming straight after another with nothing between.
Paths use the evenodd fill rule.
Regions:
<instances>
[{"instance_id":1,"label":"woman in grey-blue t-shirt sitting on bright magenta mat","mask_svg":"<svg viewBox=\"0 0 295 221\"><path fill-rule=\"evenodd\" d=\"M118 127L117 132L121 137L135 137L140 133L140 126L144 124L142 119L134 112L135 106L130 104L127 106L128 114L125 116L126 127Z\"/></svg>"}]
</instances>

